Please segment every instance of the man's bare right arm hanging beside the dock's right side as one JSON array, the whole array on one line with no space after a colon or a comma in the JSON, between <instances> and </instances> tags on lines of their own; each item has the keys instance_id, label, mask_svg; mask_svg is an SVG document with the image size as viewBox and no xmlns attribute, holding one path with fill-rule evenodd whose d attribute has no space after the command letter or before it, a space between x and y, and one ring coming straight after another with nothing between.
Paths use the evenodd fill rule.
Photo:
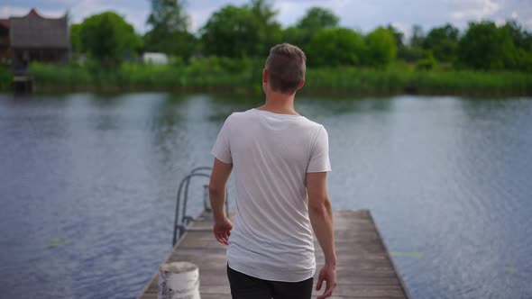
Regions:
<instances>
[{"instance_id":1,"label":"man's bare right arm hanging beside the dock's right side","mask_svg":"<svg viewBox=\"0 0 532 299\"><path fill-rule=\"evenodd\" d=\"M331 294L336 286L336 252L335 233L333 231L333 208L327 194L326 172L307 173L308 216L312 229L316 234L326 259L325 266L320 270L316 290L326 281L323 299Z\"/></svg>"}]
</instances>

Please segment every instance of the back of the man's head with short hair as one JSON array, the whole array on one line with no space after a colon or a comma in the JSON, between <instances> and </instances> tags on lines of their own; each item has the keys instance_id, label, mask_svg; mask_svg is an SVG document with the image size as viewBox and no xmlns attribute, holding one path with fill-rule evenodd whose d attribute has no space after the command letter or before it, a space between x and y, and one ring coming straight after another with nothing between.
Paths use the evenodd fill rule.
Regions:
<instances>
[{"instance_id":1,"label":"back of the man's head with short hair","mask_svg":"<svg viewBox=\"0 0 532 299\"><path fill-rule=\"evenodd\" d=\"M271 89L291 95L305 79L307 57L297 46L281 43L271 48L266 59L266 70Z\"/></svg>"}]
</instances>

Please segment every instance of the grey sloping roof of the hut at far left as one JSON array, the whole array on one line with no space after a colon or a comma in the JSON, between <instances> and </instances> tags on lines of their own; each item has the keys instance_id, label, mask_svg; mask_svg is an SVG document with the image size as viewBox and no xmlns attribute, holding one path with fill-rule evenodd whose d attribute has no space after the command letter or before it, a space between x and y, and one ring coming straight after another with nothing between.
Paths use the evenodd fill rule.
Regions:
<instances>
[{"instance_id":1,"label":"grey sloping roof of the hut at far left","mask_svg":"<svg viewBox=\"0 0 532 299\"><path fill-rule=\"evenodd\" d=\"M69 49L69 24L66 17L45 18L34 9L22 17L9 19L12 48Z\"/></svg>"}]
</instances>

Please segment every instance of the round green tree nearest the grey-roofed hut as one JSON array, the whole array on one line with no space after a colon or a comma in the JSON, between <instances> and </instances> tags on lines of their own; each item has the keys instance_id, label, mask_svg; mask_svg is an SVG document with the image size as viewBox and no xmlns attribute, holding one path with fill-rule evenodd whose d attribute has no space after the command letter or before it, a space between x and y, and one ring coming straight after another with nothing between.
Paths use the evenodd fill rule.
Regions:
<instances>
[{"instance_id":1,"label":"round green tree nearest the grey-roofed hut","mask_svg":"<svg viewBox=\"0 0 532 299\"><path fill-rule=\"evenodd\" d=\"M124 57L134 55L142 40L124 17L114 12L89 16L79 31L81 50L98 60L105 68L114 68Z\"/></svg>"}]
</instances>

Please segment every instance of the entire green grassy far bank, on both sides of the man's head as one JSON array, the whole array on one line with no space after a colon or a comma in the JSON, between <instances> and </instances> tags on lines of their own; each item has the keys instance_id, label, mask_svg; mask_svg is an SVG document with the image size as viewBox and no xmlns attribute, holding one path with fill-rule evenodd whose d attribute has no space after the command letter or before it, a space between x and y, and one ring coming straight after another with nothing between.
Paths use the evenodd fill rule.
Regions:
<instances>
[{"instance_id":1,"label":"entire green grassy far bank, on both sides of the man's head","mask_svg":"<svg viewBox=\"0 0 532 299\"><path fill-rule=\"evenodd\" d=\"M39 91L261 92L260 62L201 59L167 66L124 64L114 71L88 66L31 67ZM305 94L532 95L532 74L472 70L309 68Z\"/></svg>"}]
</instances>

